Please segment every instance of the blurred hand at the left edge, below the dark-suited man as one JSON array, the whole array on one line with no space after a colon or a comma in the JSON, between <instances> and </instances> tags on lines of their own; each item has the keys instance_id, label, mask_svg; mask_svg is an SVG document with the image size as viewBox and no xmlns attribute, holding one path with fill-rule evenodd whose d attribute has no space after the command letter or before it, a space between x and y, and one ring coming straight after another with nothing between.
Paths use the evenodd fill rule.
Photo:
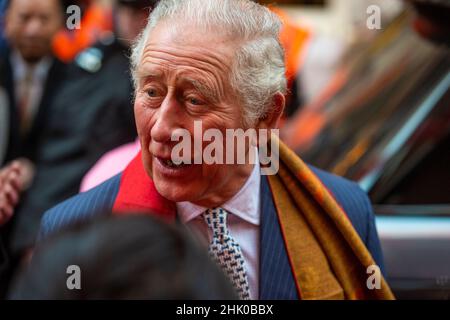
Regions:
<instances>
[{"instance_id":1,"label":"blurred hand at the left edge, below the dark-suited man","mask_svg":"<svg viewBox=\"0 0 450 320\"><path fill-rule=\"evenodd\" d=\"M13 216L20 193L31 184L33 175L33 165L27 159L15 160L0 169L0 226Z\"/></svg>"}]
</instances>

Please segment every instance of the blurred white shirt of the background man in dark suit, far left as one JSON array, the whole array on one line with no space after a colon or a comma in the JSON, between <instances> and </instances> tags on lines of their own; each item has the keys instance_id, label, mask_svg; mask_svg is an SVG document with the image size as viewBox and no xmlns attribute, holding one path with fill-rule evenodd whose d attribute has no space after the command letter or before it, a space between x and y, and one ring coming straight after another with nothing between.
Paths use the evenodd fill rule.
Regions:
<instances>
[{"instance_id":1,"label":"blurred white shirt of the background man in dark suit, far left","mask_svg":"<svg viewBox=\"0 0 450 320\"><path fill-rule=\"evenodd\" d=\"M13 51L11 54L11 63L13 65L14 94L17 106L19 106L22 95L25 91L24 82L27 73L31 72L29 98L27 99L29 102L26 106L26 112L28 122L32 123L38 112L42 95L44 94L44 86L51 66L51 59L49 57L45 57L36 64L30 65L23 60L20 53Z\"/></svg>"}]
</instances>

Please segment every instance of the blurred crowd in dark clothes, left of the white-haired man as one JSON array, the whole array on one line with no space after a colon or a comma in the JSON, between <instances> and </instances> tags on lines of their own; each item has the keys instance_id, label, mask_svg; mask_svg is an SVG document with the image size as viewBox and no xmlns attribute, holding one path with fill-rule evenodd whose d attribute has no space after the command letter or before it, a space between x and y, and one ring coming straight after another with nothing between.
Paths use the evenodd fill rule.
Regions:
<instances>
[{"instance_id":1,"label":"blurred crowd in dark clothes, left of the white-haired man","mask_svg":"<svg viewBox=\"0 0 450 320\"><path fill-rule=\"evenodd\" d=\"M2 2L0 225L10 271L42 214L78 193L104 153L136 138L128 49L155 3ZM71 5L81 9L73 29Z\"/></svg>"}]
</instances>

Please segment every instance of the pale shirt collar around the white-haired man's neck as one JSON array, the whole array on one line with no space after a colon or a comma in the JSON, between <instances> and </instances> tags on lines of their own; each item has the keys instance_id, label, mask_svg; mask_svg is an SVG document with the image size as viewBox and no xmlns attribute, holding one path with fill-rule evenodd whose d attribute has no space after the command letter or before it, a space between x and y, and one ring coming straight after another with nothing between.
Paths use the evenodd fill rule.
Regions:
<instances>
[{"instance_id":1,"label":"pale shirt collar around the white-haired man's neck","mask_svg":"<svg viewBox=\"0 0 450 320\"><path fill-rule=\"evenodd\" d=\"M256 150L255 165L253 166L250 177L247 179L239 192L220 207L253 225L259 225L260 184L261 172L258 159L258 150ZM208 210L208 208L198 206L191 202L178 202L176 205L178 216L183 223L187 223L197 218L203 212Z\"/></svg>"}]
</instances>

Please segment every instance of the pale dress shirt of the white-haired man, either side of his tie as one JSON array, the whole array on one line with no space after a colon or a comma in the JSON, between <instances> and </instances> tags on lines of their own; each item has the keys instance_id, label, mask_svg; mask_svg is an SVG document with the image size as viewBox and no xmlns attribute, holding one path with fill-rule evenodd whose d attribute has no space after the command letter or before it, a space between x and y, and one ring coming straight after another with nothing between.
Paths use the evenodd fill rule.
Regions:
<instances>
[{"instance_id":1,"label":"pale dress shirt of the white-haired man, either side of his tie","mask_svg":"<svg viewBox=\"0 0 450 320\"><path fill-rule=\"evenodd\" d=\"M233 198L220 207L228 212L227 226L231 235L240 245L244 255L247 277L250 286L250 298L259 297L259 224L260 224L260 182L261 172L258 159L250 177ZM197 234L205 244L212 240L212 232L202 214L208 208L190 202L177 203L180 220Z\"/></svg>"}]
</instances>

